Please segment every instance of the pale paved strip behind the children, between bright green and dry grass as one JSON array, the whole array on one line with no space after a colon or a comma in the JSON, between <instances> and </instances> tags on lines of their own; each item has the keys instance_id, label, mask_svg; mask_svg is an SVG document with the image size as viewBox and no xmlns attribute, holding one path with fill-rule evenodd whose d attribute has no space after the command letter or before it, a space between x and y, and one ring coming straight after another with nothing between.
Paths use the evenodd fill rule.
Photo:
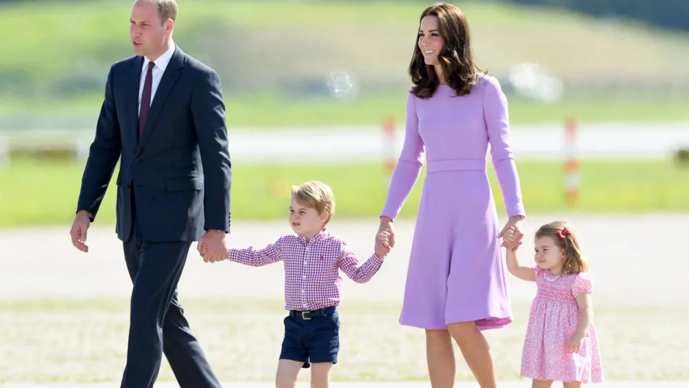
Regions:
<instances>
[{"instance_id":1,"label":"pale paved strip behind the children, between bright green and dry grass","mask_svg":"<svg viewBox=\"0 0 689 388\"><path fill-rule=\"evenodd\" d=\"M535 229L555 218L573 224L595 280L597 305L689 305L679 285L686 283L689 260L679 245L686 239L689 214L529 216L524 221L526 238L521 252L524 261L533 257ZM83 254L72 247L69 225L45 229L0 231L0 298L128 298L132 284L127 276L121 242L114 227L90 229ZM345 300L399 302L407 274L413 223L395 223L395 249L382 270L360 287L345 284ZM366 221L333 221L331 232L349 241L360 256L373 249L378 228L372 217ZM289 233L287 222L256 223L235 221L230 241L233 245L263 246L280 234ZM281 298L281 265L260 269L236 263L203 263L192 245L180 281L185 298L215 296L229 298ZM528 302L535 287L509 276L513 302ZM346 302L345 302L346 303Z\"/></svg>"}]
</instances>

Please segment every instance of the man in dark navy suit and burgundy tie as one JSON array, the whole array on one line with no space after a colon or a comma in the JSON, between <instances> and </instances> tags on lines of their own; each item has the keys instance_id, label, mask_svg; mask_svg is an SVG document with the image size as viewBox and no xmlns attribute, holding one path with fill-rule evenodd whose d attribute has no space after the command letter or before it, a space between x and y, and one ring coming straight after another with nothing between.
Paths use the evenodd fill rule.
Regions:
<instances>
[{"instance_id":1,"label":"man in dark navy suit and burgundy tie","mask_svg":"<svg viewBox=\"0 0 689 388\"><path fill-rule=\"evenodd\" d=\"M218 74L172 41L174 0L136 0L136 56L114 63L81 181L72 244L86 232L117 175L116 233L132 278L121 387L153 387L165 353L182 388L220 388L177 300L193 241L204 261L227 255L231 165ZM200 252L200 251L199 251Z\"/></svg>"}]
</instances>

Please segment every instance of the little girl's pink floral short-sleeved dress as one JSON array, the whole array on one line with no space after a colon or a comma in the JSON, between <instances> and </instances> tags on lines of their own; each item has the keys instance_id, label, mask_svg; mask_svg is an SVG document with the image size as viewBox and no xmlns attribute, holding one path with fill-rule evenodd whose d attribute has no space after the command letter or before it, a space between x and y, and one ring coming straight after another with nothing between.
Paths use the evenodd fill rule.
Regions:
<instances>
[{"instance_id":1,"label":"little girl's pink floral short-sleeved dress","mask_svg":"<svg viewBox=\"0 0 689 388\"><path fill-rule=\"evenodd\" d=\"M531 304L522 351L522 376L535 380L603 381L598 336L593 324L578 354L569 354L567 341L579 324L575 297L591 292L586 273L555 276L536 266L538 291Z\"/></svg>"}]
</instances>

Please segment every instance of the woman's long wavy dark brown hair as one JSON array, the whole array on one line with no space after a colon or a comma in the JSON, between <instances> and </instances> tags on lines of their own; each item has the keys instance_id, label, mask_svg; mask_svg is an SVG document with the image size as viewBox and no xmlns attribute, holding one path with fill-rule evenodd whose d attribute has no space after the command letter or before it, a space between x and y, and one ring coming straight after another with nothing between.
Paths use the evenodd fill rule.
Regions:
<instances>
[{"instance_id":1,"label":"woman's long wavy dark brown hair","mask_svg":"<svg viewBox=\"0 0 689 388\"><path fill-rule=\"evenodd\" d=\"M445 48L438 54L438 61L442 68L445 81L457 96L464 96L471 92L473 85L479 81L479 72L486 74L474 64L471 49L471 34L469 23L464 12L451 5L440 3L426 8L421 13L419 25L426 16L438 18L438 30L445 40ZM414 44L414 54L409 64L409 76L413 83L411 93L422 99L433 96L438 89L440 80L431 65L426 65L424 56L419 48L419 35Z\"/></svg>"}]
</instances>

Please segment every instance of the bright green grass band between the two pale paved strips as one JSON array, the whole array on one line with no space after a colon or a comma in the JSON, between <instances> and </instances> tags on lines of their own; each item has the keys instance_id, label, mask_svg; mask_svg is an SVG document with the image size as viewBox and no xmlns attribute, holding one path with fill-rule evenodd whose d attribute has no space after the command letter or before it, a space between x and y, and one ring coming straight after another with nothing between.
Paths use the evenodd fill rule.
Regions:
<instances>
[{"instance_id":1,"label":"bright green grass band between the two pale paved strips","mask_svg":"<svg viewBox=\"0 0 689 388\"><path fill-rule=\"evenodd\" d=\"M689 168L670 161L583 161L581 197L568 207L563 195L561 163L517 164L526 212L689 212ZM16 160L0 169L0 227L70 223L74 217L83 165ZM422 172L422 176L424 172ZM489 177L498 209L502 195L492 168ZM289 187L311 179L336 192L338 218L379 214L388 178L380 164L236 165L232 214L239 219L274 219L287 212ZM418 210L422 177L401 217ZM114 183L105 196L97 223L114 222Z\"/></svg>"}]
</instances>

